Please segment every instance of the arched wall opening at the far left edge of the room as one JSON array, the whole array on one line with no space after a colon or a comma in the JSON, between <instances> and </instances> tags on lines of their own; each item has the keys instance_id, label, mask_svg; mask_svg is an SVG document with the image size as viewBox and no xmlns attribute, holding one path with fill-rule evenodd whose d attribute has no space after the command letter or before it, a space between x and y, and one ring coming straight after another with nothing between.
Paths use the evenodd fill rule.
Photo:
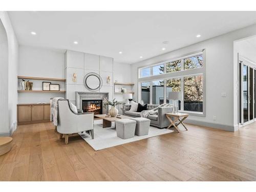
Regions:
<instances>
[{"instance_id":1,"label":"arched wall opening at the far left edge of the room","mask_svg":"<svg viewBox=\"0 0 256 192\"><path fill-rule=\"evenodd\" d=\"M9 135L8 113L8 38L0 19L0 134Z\"/></svg>"}]
</instances>

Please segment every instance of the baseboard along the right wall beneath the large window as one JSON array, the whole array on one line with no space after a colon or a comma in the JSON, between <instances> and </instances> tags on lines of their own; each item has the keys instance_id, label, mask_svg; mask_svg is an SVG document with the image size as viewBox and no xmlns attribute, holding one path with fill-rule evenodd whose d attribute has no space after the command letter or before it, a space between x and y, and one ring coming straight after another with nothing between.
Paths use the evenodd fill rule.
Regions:
<instances>
[{"instance_id":1,"label":"baseboard along the right wall beneath the large window","mask_svg":"<svg viewBox=\"0 0 256 192\"><path fill-rule=\"evenodd\" d=\"M186 119L184 120L185 123L190 123L190 124L195 124L195 125L200 125L200 126L207 126L211 127L214 129L219 129L219 130L224 130L224 131L229 131L229 132L234 132L238 131L238 125L225 125L225 124L220 124L220 123L210 123L210 122L204 122L204 121L197 121L197 120L192 120L192 119Z\"/></svg>"}]
</instances>

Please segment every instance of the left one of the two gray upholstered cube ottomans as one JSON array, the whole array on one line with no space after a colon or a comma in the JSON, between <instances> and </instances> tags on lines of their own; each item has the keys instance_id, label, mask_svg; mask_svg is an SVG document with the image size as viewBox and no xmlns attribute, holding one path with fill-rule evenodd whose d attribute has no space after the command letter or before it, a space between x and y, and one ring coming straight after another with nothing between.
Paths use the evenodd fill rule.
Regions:
<instances>
[{"instance_id":1,"label":"left one of the two gray upholstered cube ottomans","mask_svg":"<svg viewBox=\"0 0 256 192\"><path fill-rule=\"evenodd\" d=\"M135 135L136 121L132 119L116 120L116 135L122 139L129 139Z\"/></svg>"}]
</instances>

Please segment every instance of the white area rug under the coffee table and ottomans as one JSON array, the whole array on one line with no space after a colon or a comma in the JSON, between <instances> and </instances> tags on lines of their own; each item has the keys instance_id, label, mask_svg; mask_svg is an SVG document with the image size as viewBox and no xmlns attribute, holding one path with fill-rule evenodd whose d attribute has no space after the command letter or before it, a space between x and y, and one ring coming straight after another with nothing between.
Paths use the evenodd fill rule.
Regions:
<instances>
[{"instance_id":1,"label":"white area rug under the coffee table and ottomans","mask_svg":"<svg viewBox=\"0 0 256 192\"><path fill-rule=\"evenodd\" d=\"M135 135L130 139L121 139L116 136L116 129L114 127L114 122L112 122L112 127L102 128L102 120L94 121L94 139L91 138L88 134L80 134L80 136L86 141L89 145L91 145L95 151L103 150L103 148L109 148L112 146L121 145L124 143L130 143L133 141L138 141L141 139L146 139L150 137L155 137L158 135L163 135L167 133L172 133L174 131L167 129L158 129L157 127L150 126L150 130L148 135L137 136Z\"/></svg>"}]
</instances>

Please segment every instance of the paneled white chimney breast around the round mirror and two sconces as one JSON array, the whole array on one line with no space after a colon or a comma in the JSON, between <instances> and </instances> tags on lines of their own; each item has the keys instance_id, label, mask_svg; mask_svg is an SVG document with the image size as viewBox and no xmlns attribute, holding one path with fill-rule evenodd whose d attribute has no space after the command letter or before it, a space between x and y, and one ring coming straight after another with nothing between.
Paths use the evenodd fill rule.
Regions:
<instances>
[{"instance_id":1,"label":"paneled white chimney breast around the round mirror and two sconces","mask_svg":"<svg viewBox=\"0 0 256 192\"><path fill-rule=\"evenodd\" d=\"M75 104L75 92L90 92L83 85L83 77L94 72L102 78L102 87L97 92L108 92L109 99L113 99L113 58L89 53L68 50L65 53L66 97ZM77 81L72 81L73 74L77 74ZM111 76L110 83L106 77Z\"/></svg>"}]
</instances>

